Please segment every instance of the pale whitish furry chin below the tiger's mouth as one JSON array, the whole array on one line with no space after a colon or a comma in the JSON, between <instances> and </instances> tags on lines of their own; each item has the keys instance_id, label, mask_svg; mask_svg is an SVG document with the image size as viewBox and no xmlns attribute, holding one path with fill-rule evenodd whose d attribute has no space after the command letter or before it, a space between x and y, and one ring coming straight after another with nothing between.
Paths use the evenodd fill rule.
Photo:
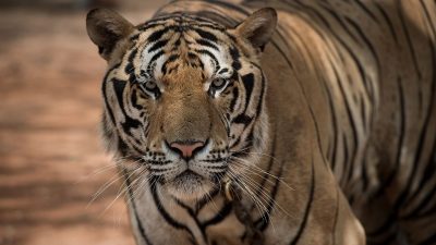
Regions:
<instances>
[{"instance_id":1,"label":"pale whitish furry chin below the tiger's mouth","mask_svg":"<svg viewBox=\"0 0 436 245\"><path fill-rule=\"evenodd\" d=\"M166 188L177 199L198 200L214 188L214 184L204 176L185 171L167 182Z\"/></svg>"}]
</instances>

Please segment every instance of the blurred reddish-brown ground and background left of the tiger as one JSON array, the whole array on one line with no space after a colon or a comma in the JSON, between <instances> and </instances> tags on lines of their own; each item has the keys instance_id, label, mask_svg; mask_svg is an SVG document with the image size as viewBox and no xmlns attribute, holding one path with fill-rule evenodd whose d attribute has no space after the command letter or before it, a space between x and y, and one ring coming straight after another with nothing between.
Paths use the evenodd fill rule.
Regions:
<instances>
[{"instance_id":1,"label":"blurred reddish-brown ground and background left of the tiger","mask_svg":"<svg viewBox=\"0 0 436 245\"><path fill-rule=\"evenodd\" d=\"M106 62L85 15L111 7L137 24L165 2L0 0L1 245L134 244L99 140Z\"/></svg>"}]
</instances>

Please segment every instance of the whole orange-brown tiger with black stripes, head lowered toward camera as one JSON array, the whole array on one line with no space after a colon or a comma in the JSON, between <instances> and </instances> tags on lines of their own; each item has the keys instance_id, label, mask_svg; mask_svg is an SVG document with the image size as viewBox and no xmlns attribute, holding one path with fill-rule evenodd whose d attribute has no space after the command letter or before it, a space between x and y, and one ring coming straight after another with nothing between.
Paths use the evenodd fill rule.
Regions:
<instances>
[{"instance_id":1,"label":"whole orange-brown tiger with black stripes, head lowered toward camera","mask_svg":"<svg viewBox=\"0 0 436 245\"><path fill-rule=\"evenodd\" d=\"M435 1L172 1L86 28L136 244L436 244Z\"/></svg>"}]
</instances>

